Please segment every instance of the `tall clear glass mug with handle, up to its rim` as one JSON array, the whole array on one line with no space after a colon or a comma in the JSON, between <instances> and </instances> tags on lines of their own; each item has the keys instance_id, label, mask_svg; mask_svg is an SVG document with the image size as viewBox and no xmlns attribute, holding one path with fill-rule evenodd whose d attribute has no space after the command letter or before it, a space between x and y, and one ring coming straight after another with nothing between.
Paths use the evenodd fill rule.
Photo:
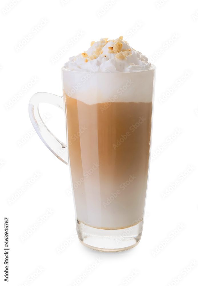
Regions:
<instances>
[{"instance_id":1,"label":"tall clear glass mug with handle, up to its rim","mask_svg":"<svg viewBox=\"0 0 198 286\"><path fill-rule=\"evenodd\" d=\"M149 174L156 67L127 73L61 68L63 96L39 92L29 102L43 143L69 165L80 242L114 252L142 234ZM43 124L39 103L65 113L67 143Z\"/></svg>"}]
</instances>

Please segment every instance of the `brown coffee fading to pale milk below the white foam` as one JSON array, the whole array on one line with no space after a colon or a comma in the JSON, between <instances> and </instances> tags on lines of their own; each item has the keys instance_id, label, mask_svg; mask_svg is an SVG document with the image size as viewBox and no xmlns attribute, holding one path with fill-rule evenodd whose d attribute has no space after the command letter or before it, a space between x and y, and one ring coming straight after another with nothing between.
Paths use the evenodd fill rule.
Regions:
<instances>
[{"instance_id":1,"label":"brown coffee fading to pale milk below the white foam","mask_svg":"<svg viewBox=\"0 0 198 286\"><path fill-rule=\"evenodd\" d=\"M99 228L133 225L144 211L152 103L64 98L77 218Z\"/></svg>"}]
</instances>

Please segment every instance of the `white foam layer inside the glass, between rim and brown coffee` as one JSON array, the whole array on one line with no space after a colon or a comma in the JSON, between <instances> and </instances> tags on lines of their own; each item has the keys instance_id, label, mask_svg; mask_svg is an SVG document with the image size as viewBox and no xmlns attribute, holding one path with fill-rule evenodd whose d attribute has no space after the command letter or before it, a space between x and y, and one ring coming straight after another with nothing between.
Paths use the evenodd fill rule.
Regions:
<instances>
[{"instance_id":1,"label":"white foam layer inside the glass, between rim and brown coffee","mask_svg":"<svg viewBox=\"0 0 198 286\"><path fill-rule=\"evenodd\" d=\"M67 96L86 104L103 102L152 102L155 66L129 73L85 73L62 67Z\"/></svg>"}]
</instances>

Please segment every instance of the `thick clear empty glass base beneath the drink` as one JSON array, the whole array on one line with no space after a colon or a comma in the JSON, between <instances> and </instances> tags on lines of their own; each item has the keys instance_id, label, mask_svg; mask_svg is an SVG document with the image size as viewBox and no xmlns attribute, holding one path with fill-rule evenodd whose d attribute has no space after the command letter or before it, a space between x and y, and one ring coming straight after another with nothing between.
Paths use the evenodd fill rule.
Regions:
<instances>
[{"instance_id":1,"label":"thick clear empty glass base beneath the drink","mask_svg":"<svg viewBox=\"0 0 198 286\"><path fill-rule=\"evenodd\" d=\"M79 241L88 248L104 252L124 251L135 247L142 235L143 220L123 229L97 229L77 220Z\"/></svg>"}]
</instances>

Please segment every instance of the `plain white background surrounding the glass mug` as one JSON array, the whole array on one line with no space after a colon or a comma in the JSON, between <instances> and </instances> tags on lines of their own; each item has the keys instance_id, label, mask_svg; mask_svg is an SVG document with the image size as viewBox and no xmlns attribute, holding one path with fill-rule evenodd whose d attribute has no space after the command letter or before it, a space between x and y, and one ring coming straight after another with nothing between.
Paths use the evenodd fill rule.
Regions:
<instances>
[{"instance_id":1,"label":"plain white background surrounding the glass mug","mask_svg":"<svg viewBox=\"0 0 198 286\"><path fill-rule=\"evenodd\" d=\"M0 280L3 281L4 275L3 220L6 216L10 222L11 286L75 285L83 273L87 273L87 277L80 285L197 285L197 1L161 0L162 4L157 5L160 0L116 0L101 15L98 12L101 13L109 0L65 2L20 0L12 5L9 0L1 0L0 4ZM7 5L11 9L5 12L6 7L9 10ZM32 29L42 19L47 23L33 33ZM136 25L140 27L135 28ZM84 34L71 46L69 43L78 31ZM17 49L19 42L30 33L33 37ZM173 41L174 34L177 39L173 38ZM149 60L155 58L152 60L157 66L157 76L151 150L152 156L155 152L155 158L150 166L147 217L141 242L129 251L101 253L81 245L74 234L75 213L73 198L69 195L69 168L35 133L32 134L28 102L35 92L61 95L60 68L68 58L86 50L93 40L98 41L101 37L115 39L120 35L127 37L129 44L146 54ZM66 45L69 45L68 51L52 63ZM190 73L188 77L186 71ZM32 77L36 77L36 83L24 92L24 86ZM183 82L177 84L182 77ZM163 94L174 85L176 89L160 102ZM19 92L22 96L8 107ZM50 116L47 126L64 140L63 113L49 106L43 106L41 113ZM174 136L176 129L182 131L178 136ZM26 136L27 140L24 140L27 132L32 136ZM172 136L171 143L167 139L169 136ZM22 140L25 143L21 144ZM161 151L157 151L159 148ZM187 176L182 180L179 176L188 170L188 166L192 166L193 171L185 173ZM39 178L9 203L35 172L41 174ZM176 180L179 184L171 189ZM163 198L166 188L172 191ZM53 212L40 224L39 217L48 209ZM22 241L21 237L34 224L38 228ZM177 231L179 224L183 227ZM59 254L57 248L71 236L73 241ZM169 243L160 246L166 239ZM87 267L92 267L97 259L101 263L89 273ZM193 268L190 267L191 261L195 261ZM28 277L38 267L43 269L42 272L30 282ZM187 267L188 273L184 270ZM124 279L133 271L138 274L126 282ZM181 280L177 280L179 275ZM6 283L3 281L1 285Z\"/></svg>"}]
</instances>

